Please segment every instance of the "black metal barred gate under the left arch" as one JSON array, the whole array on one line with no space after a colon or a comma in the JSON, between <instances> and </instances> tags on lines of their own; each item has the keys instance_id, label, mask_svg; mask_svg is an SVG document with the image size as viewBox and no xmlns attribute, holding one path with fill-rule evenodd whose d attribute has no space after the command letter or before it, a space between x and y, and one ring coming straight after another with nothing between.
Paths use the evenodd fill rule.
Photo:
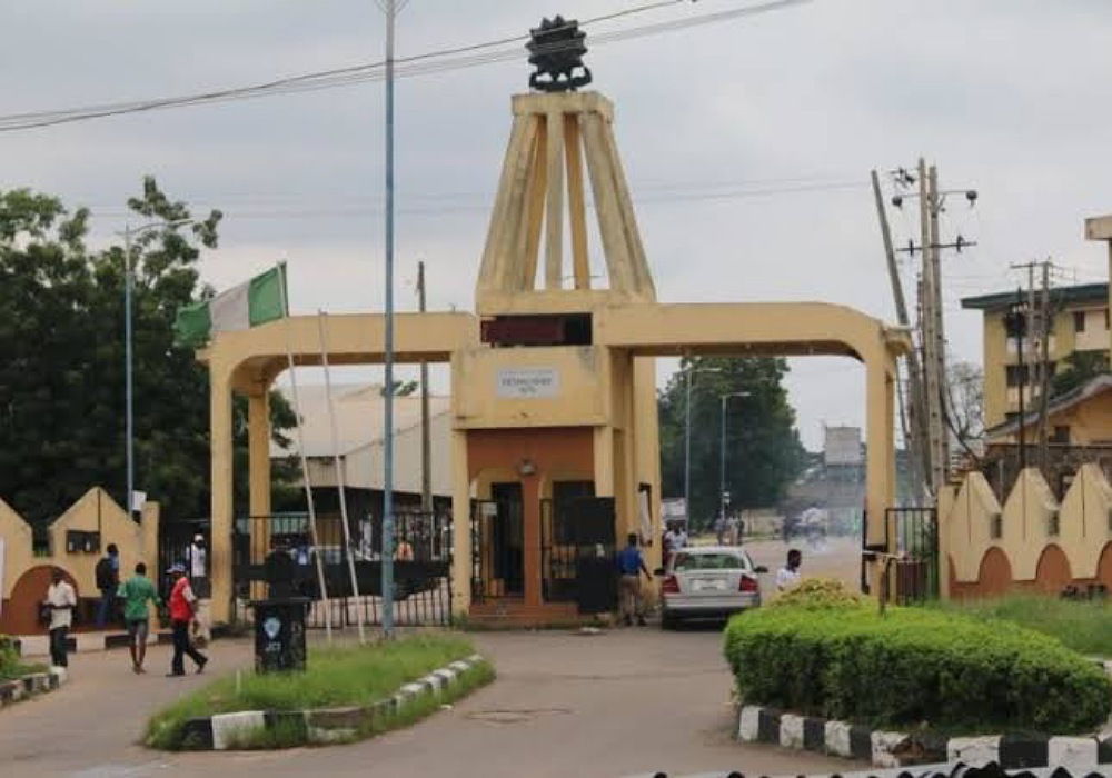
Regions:
<instances>
[{"instance_id":1,"label":"black metal barred gate under the left arch","mask_svg":"<svg viewBox=\"0 0 1112 778\"><path fill-rule=\"evenodd\" d=\"M272 555L294 560L294 589L314 604L306 626L381 624L383 538L377 518L353 520L349 529L358 596L347 563L339 516L317 517L317 543L304 513L237 519L232 530L232 581L237 604L265 596L266 561ZM451 517L424 512L395 516L394 620L397 625L447 625L451 621ZM324 563L326 605L317 576Z\"/></svg>"}]
</instances>

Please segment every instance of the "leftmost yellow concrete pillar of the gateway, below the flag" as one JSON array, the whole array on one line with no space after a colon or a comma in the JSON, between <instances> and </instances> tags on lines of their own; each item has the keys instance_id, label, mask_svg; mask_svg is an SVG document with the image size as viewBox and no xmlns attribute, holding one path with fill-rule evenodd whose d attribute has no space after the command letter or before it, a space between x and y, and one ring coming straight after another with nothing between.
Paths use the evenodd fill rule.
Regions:
<instances>
[{"instance_id":1,"label":"leftmost yellow concrete pillar of the gateway, below the flag","mask_svg":"<svg viewBox=\"0 0 1112 778\"><path fill-rule=\"evenodd\" d=\"M232 416L231 382L225 370L209 367L209 433L212 448L212 619L231 617Z\"/></svg>"}]
</instances>

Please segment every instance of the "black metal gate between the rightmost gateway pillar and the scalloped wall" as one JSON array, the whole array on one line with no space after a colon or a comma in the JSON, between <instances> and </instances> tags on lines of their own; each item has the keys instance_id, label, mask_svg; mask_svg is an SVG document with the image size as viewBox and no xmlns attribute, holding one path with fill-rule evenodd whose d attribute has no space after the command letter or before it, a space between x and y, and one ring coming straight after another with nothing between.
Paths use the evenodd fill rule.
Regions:
<instances>
[{"instance_id":1,"label":"black metal gate between the rightmost gateway pillar and the scalloped wall","mask_svg":"<svg viewBox=\"0 0 1112 778\"><path fill-rule=\"evenodd\" d=\"M897 555L895 599L916 605L939 597L939 513L934 508L885 511L887 547ZM893 543L894 540L894 543Z\"/></svg>"}]
</instances>

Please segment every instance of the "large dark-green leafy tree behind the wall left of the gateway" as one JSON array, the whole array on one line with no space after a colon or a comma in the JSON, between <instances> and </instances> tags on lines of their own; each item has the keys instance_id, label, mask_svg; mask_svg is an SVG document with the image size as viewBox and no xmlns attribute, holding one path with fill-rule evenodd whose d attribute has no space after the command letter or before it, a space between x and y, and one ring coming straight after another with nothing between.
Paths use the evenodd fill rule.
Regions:
<instances>
[{"instance_id":1,"label":"large dark-green leafy tree behind the wall left of the gateway","mask_svg":"<svg viewBox=\"0 0 1112 778\"><path fill-rule=\"evenodd\" d=\"M153 178L128 201L143 221L192 218ZM207 516L208 378L173 342L178 308L211 295L196 269L220 212L131 241L137 488L168 520ZM125 250L86 245L89 212L28 190L0 192L0 497L34 523L91 486L125 500ZM276 442L291 412L272 396ZM239 436L246 448L246 436ZM288 443L288 441L285 441Z\"/></svg>"}]
</instances>

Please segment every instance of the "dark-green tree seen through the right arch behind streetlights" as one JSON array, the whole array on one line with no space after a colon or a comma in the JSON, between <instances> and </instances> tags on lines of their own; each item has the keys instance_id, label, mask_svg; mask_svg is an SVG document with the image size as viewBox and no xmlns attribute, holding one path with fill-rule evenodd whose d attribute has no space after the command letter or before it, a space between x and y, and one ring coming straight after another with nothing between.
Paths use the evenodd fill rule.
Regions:
<instances>
[{"instance_id":1,"label":"dark-green tree seen through the right arch behind streetlights","mask_svg":"<svg viewBox=\"0 0 1112 778\"><path fill-rule=\"evenodd\" d=\"M693 523L706 525L718 513L722 472L722 400L727 400L726 491L734 511L778 502L800 473L805 450L787 401L784 359L685 359L659 392L662 479L665 495L684 493L687 373L692 371Z\"/></svg>"}]
</instances>

